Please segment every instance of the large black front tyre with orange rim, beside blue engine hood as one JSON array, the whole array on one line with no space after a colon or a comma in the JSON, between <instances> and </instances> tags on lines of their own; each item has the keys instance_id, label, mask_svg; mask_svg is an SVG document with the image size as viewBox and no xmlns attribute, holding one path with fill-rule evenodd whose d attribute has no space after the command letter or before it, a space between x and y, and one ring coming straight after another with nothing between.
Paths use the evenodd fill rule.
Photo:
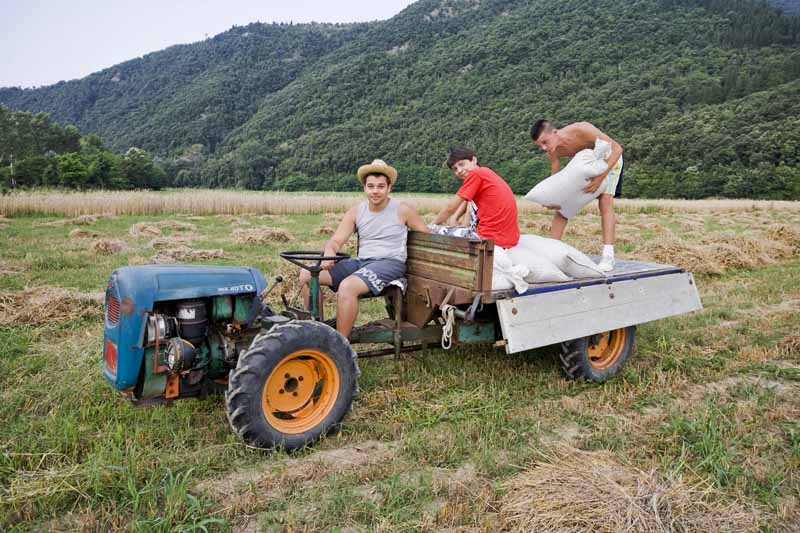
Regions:
<instances>
[{"instance_id":1,"label":"large black front tyre with orange rim, beside blue engine hood","mask_svg":"<svg viewBox=\"0 0 800 533\"><path fill-rule=\"evenodd\" d=\"M336 330L306 320L276 326L231 371L228 421L250 446L300 448L339 429L358 374L355 352Z\"/></svg>"}]
</instances>

